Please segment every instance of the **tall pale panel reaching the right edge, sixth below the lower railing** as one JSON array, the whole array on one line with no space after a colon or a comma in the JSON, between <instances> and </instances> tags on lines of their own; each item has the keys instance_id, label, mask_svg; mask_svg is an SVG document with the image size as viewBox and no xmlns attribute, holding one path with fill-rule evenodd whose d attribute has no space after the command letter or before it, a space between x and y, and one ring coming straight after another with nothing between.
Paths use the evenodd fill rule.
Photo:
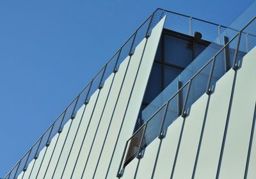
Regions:
<instances>
[{"instance_id":1,"label":"tall pale panel reaching the right edge, sixth below the lower railing","mask_svg":"<svg viewBox=\"0 0 256 179\"><path fill-rule=\"evenodd\" d=\"M242 67L237 71L220 178L244 176L256 101L256 83L248 81L256 77L255 57L256 48L244 56Z\"/></svg>"}]
</instances>

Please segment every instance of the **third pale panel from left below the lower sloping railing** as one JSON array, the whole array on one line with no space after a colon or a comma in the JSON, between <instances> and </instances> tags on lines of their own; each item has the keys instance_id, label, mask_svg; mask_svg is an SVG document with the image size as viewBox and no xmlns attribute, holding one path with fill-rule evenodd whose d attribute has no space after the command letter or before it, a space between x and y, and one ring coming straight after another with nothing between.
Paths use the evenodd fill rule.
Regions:
<instances>
[{"instance_id":1,"label":"third pale panel from left below the lower sloping railing","mask_svg":"<svg viewBox=\"0 0 256 179\"><path fill-rule=\"evenodd\" d=\"M156 165L154 178L170 179L176 150L179 143L180 131L183 117L177 118L175 122L168 127L166 137L163 139L159 157Z\"/></svg>"}]
</instances>

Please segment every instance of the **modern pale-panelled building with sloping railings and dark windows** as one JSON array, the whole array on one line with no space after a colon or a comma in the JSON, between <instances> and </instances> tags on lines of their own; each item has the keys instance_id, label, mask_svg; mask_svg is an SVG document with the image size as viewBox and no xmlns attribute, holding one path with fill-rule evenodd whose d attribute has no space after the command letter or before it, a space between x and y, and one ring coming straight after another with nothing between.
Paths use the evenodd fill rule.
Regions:
<instances>
[{"instance_id":1,"label":"modern pale-panelled building with sloping railings and dark windows","mask_svg":"<svg viewBox=\"0 0 256 179\"><path fill-rule=\"evenodd\" d=\"M255 12L157 9L5 178L256 178Z\"/></svg>"}]
</instances>

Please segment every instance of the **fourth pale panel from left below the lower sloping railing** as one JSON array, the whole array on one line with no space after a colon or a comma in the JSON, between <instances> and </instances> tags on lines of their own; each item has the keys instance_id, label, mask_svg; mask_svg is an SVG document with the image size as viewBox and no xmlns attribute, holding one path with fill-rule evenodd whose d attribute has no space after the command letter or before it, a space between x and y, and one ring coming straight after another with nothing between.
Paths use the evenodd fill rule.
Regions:
<instances>
[{"instance_id":1,"label":"fourth pale panel from left below the lower sloping railing","mask_svg":"<svg viewBox=\"0 0 256 179\"><path fill-rule=\"evenodd\" d=\"M204 122L208 95L204 94L192 106L185 119L184 131L180 142L179 154L173 178L191 178L196 152Z\"/></svg>"}]
</instances>

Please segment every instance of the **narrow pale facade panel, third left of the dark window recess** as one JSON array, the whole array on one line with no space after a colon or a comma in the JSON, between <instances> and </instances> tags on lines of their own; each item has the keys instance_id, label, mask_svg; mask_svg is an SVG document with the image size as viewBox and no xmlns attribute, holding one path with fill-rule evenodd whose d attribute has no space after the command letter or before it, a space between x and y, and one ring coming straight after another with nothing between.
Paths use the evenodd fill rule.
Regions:
<instances>
[{"instance_id":1,"label":"narrow pale facade panel, third left of the dark window recess","mask_svg":"<svg viewBox=\"0 0 256 179\"><path fill-rule=\"evenodd\" d=\"M118 92L120 91L122 81L124 79L125 70L127 69L128 64L129 64L129 57L127 57L127 59L125 59L122 62L122 64L120 64L118 72L115 75L115 79L113 81L113 85L109 94L109 100L102 114L99 130L97 132L97 135L92 147L92 153L90 154L90 157L88 159L88 164L86 166L86 171L84 172L84 176L90 175L90 177L92 178L95 168L97 166L97 160L99 159L99 156L100 156L100 150L102 149L102 145L104 143L104 137L106 136L106 133L108 131L108 125L111 120L111 115L118 97ZM79 168L79 166L77 167ZM81 177L81 175L78 175L78 173L75 171L74 177L72 178L77 178L77 177L79 178Z\"/></svg>"}]
</instances>

